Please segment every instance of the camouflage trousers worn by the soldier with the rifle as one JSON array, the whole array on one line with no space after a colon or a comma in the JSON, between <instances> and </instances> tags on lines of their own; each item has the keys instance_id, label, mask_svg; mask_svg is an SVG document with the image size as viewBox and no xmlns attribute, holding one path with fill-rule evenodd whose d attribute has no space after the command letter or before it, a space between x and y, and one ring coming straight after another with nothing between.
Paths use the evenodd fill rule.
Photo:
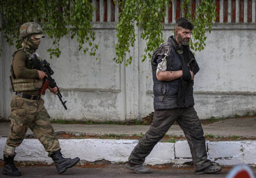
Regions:
<instances>
[{"instance_id":1,"label":"camouflage trousers worn by the soldier with the rifle","mask_svg":"<svg viewBox=\"0 0 256 178\"><path fill-rule=\"evenodd\" d=\"M11 101L11 111L10 133L3 150L5 155L15 155L15 147L22 143L28 128L43 144L45 151L49 153L48 156L60 149L42 98L36 101L15 95Z\"/></svg>"}]
</instances>

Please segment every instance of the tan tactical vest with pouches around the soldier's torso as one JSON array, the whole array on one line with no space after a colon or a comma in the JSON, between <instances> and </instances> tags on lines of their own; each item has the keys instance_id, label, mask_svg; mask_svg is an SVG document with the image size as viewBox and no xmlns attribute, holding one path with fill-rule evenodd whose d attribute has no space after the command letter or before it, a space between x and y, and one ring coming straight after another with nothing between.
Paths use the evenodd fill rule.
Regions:
<instances>
[{"instance_id":1,"label":"tan tactical vest with pouches around the soldier's torso","mask_svg":"<svg viewBox=\"0 0 256 178\"><path fill-rule=\"evenodd\" d=\"M23 48L20 48L17 51L22 51L22 50L24 51ZM13 53L13 59L14 59L14 56L17 51L15 51ZM24 52L26 52L26 51L24 51ZM26 53L26 57L27 57L27 62L28 62L28 54L27 53ZM33 69L33 67L32 67L32 69ZM16 78L15 74L13 72L13 60L12 60L12 65L11 65L10 81L11 81L12 88L13 88L14 92L39 90L43 86L43 79Z\"/></svg>"}]
</instances>

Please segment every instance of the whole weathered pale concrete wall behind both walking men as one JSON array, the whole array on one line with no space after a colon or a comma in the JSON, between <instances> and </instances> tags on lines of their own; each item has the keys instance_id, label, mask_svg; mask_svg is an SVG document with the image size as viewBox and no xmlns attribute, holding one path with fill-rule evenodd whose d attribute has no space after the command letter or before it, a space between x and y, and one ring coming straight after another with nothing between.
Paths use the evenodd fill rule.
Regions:
<instances>
[{"instance_id":1,"label":"whole weathered pale concrete wall behind both walking men","mask_svg":"<svg viewBox=\"0 0 256 178\"><path fill-rule=\"evenodd\" d=\"M116 19L117 13L116 8ZM174 14L173 11L173 18ZM52 41L47 37L41 40L38 53L51 63L55 72L53 78L60 86L68 107L65 111L58 97L47 92L43 98L52 118L140 120L154 111L149 59L140 62L145 42L137 37L135 47L130 52L134 57L133 63L128 67L124 64L117 66L112 60L115 57L116 22L109 22L109 19L109 14L108 22L95 22L93 19L95 43L99 44L98 60L78 51L77 41L75 38L71 40L69 35L61 39L61 56L51 60L46 51ZM165 40L172 35L173 26L173 23L168 24L165 20ZM135 27L135 31L138 36L140 30ZM195 55L200 67L194 85L195 108L199 118L225 117L235 113L243 115L247 111L256 111L255 32L255 18L252 23L223 23L221 17L220 23L213 24L211 34L207 34L206 48ZM0 118L8 119L10 100L14 95L9 75L15 48L4 42L3 32L1 37Z\"/></svg>"}]
</instances>

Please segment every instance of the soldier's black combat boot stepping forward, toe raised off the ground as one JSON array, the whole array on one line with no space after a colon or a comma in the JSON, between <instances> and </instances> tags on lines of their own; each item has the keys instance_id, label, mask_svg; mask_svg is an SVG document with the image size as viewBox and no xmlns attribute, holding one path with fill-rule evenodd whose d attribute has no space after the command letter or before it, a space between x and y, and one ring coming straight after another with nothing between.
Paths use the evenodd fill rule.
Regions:
<instances>
[{"instance_id":1,"label":"soldier's black combat boot stepping forward, toe raised off the ground","mask_svg":"<svg viewBox=\"0 0 256 178\"><path fill-rule=\"evenodd\" d=\"M74 159L71 158L63 158L60 150L57 152L54 152L51 155L52 160L54 161L57 171L59 174L62 174L65 172L68 168L72 168L78 161L80 161L80 158L76 157Z\"/></svg>"}]
</instances>

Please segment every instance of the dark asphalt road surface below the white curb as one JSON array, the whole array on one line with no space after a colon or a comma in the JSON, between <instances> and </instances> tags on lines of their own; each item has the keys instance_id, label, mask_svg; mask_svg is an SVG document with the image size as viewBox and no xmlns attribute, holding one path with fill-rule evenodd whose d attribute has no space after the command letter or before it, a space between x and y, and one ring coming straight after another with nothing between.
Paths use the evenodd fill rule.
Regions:
<instances>
[{"instance_id":1,"label":"dark asphalt road surface below the white curb","mask_svg":"<svg viewBox=\"0 0 256 178\"><path fill-rule=\"evenodd\" d=\"M33 168L21 168L19 167L20 172L22 172L21 177L50 177L50 178L71 178L71 177L218 177L224 178L229 172L230 168L223 168L218 174L208 174L208 175L196 175L193 171L193 168L171 168L171 167L158 167L151 166L151 174L136 174L131 170L127 170L124 167L124 164L108 164L102 166L102 168L80 168L73 167L68 169L63 174L59 175L54 166L41 166L41 167L33 167ZM2 172L2 168L0 168ZM254 174L256 173L256 168L252 169ZM7 175L0 175L0 177L7 178ZM9 177L10 178L10 177Z\"/></svg>"}]
</instances>

